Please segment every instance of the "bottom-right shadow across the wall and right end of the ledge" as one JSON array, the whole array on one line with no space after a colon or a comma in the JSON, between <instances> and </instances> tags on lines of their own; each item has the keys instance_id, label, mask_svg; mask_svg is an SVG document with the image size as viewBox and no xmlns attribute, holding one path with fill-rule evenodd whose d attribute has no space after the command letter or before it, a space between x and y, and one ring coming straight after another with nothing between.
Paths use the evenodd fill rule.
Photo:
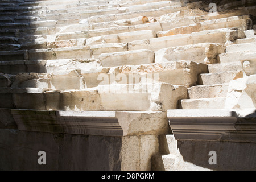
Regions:
<instances>
[{"instance_id":1,"label":"bottom-right shadow across the wall and right end of the ledge","mask_svg":"<svg viewBox=\"0 0 256 182\"><path fill-rule=\"evenodd\" d=\"M217 171L256 170L256 110L238 118L236 131L226 131L223 141L182 140L177 148L185 162ZM239 142L243 141L243 142ZM210 151L217 154L217 164L209 164Z\"/></svg>"}]
</instances>

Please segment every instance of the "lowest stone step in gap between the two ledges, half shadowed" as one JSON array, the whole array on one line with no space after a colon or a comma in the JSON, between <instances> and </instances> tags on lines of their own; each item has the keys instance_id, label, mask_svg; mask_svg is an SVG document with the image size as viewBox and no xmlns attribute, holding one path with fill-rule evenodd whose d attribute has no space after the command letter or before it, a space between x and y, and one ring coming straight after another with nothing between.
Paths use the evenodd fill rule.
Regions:
<instances>
[{"instance_id":1,"label":"lowest stone step in gap between the two ledges, half shadowed","mask_svg":"<svg viewBox=\"0 0 256 182\"><path fill-rule=\"evenodd\" d=\"M177 156L173 154L155 155L151 159L152 171L174 171Z\"/></svg>"}]
</instances>

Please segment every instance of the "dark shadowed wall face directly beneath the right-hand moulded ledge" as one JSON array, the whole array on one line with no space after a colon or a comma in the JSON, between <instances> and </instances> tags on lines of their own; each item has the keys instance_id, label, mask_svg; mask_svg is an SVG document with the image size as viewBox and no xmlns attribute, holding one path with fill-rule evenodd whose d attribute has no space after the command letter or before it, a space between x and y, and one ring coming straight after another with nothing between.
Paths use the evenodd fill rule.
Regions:
<instances>
[{"instance_id":1,"label":"dark shadowed wall face directly beneath the right-hand moulded ledge","mask_svg":"<svg viewBox=\"0 0 256 182\"><path fill-rule=\"evenodd\" d=\"M256 143L178 141L185 162L217 171L256 170ZM216 152L217 164L209 164L210 151Z\"/></svg>"}]
</instances>

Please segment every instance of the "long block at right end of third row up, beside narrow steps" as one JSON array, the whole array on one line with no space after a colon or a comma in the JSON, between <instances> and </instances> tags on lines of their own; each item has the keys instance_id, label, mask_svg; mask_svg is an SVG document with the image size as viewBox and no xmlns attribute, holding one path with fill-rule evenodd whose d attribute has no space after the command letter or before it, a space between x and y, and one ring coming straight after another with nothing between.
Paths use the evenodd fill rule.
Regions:
<instances>
[{"instance_id":1,"label":"long block at right end of third row up, beside narrow steps","mask_svg":"<svg viewBox=\"0 0 256 182\"><path fill-rule=\"evenodd\" d=\"M164 48L155 52L155 62L191 60L196 63L214 64L219 63L218 55L224 52L225 47L222 44L216 43L199 43L182 47Z\"/></svg>"}]
</instances>

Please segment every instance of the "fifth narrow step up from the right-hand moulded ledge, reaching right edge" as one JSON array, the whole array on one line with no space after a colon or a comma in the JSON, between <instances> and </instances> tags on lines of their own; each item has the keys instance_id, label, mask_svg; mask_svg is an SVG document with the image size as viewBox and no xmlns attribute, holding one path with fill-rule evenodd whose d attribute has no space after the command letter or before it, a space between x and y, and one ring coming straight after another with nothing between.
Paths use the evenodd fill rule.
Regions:
<instances>
[{"instance_id":1,"label":"fifth narrow step up from the right-hand moulded ledge, reaching right edge","mask_svg":"<svg viewBox=\"0 0 256 182\"><path fill-rule=\"evenodd\" d=\"M230 63L234 61L252 60L256 58L255 51L244 51L244 52L230 52L222 53L220 55L221 63Z\"/></svg>"}]
</instances>

